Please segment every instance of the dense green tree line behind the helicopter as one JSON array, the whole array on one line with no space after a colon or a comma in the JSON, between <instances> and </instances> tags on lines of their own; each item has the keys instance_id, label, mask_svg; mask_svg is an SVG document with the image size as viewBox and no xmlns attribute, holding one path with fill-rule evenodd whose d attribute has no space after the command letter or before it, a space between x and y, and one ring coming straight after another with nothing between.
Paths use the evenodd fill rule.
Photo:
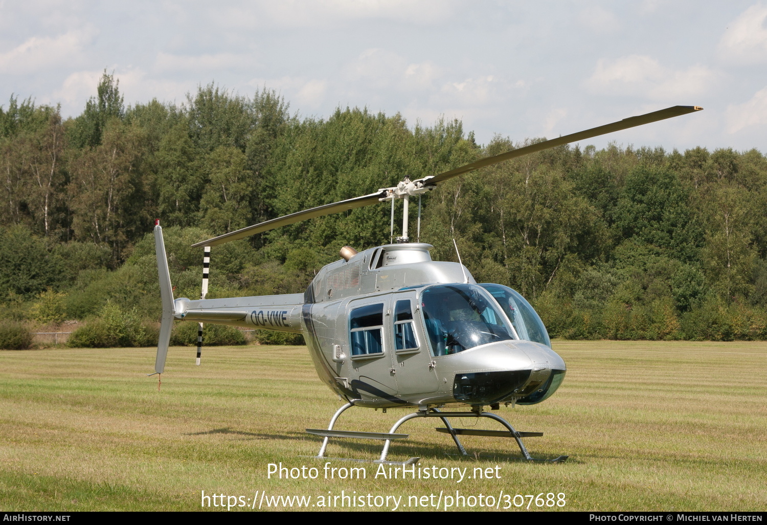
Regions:
<instances>
[{"instance_id":1,"label":"dense green tree line behind the helicopter","mask_svg":"<svg viewBox=\"0 0 767 525\"><path fill-rule=\"evenodd\" d=\"M266 88L209 84L183 104L126 107L106 72L74 118L11 97L0 314L154 320L155 218L177 295L196 297L191 243L535 140L479 145L460 121L409 126L364 108L301 117ZM763 339L765 187L756 149L564 146L444 183L423 198L421 241L456 260L456 239L479 282L518 289L555 337ZM303 291L341 246L389 242L389 213L368 206L217 246L209 297Z\"/></svg>"}]
</instances>

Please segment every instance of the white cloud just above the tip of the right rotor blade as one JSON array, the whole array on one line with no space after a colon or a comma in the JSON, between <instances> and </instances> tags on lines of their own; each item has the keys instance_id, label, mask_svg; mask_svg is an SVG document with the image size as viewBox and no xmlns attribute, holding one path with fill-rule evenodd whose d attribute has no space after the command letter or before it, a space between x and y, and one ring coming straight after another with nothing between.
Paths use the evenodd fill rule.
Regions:
<instances>
[{"instance_id":1,"label":"white cloud just above the tip of the right rotor blade","mask_svg":"<svg viewBox=\"0 0 767 525\"><path fill-rule=\"evenodd\" d=\"M700 97L716 85L718 80L719 74L703 65L673 71L663 67L654 58L631 54L615 60L599 59L594 74L584 85L596 94L630 95L695 104L694 101L678 99Z\"/></svg>"}]
</instances>

